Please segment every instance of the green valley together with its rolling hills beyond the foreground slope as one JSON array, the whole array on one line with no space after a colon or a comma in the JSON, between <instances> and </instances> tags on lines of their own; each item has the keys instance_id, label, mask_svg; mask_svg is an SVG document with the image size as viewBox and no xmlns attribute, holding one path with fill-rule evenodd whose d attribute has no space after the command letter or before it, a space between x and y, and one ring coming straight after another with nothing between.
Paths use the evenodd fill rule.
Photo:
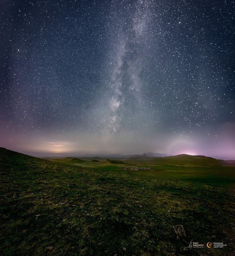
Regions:
<instances>
[{"instance_id":1,"label":"green valley together with its rolling hills beyond the foreground slope","mask_svg":"<svg viewBox=\"0 0 235 256\"><path fill-rule=\"evenodd\" d=\"M161 178L196 181L207 184L232 187L235 185L235 166L228 165L227 161L217 160L205 156L169 156L169 157L135 157L112 158L86 157L73 158L68 162L65 158L48 158L59 163L77 164L98 170L129 173L129 175L144 175ZM226 165L227 164L227 165ZM234 164L234 161L233 161ZM134 167L143 168L136 171ZM144 170L149 167L150 170ZM124 170L127 169L127 170Z\"/></svg>"}]
</instances>

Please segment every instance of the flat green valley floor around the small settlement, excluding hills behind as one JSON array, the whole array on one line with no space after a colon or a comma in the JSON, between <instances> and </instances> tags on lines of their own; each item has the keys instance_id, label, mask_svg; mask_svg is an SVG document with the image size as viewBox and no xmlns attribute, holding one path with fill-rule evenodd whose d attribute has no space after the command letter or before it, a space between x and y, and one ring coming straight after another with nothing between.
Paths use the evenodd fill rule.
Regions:
<instances>
[{"instance_id":1,"label":"flat green valley floor around the small settlement, excluding hills behind","mask_svg":"<svg viewBox=\"0 0 235 256\"><path fill-rule=\"evenodd\" d=\"M62 161L62 160L60 160ZM235 167L234 166L220 166L220 165L208 165L208 166L184 166L174 164L153 165L139 163L136 165L130 164L111 164L101 162L83 162L77 164L78 166L88 167L99 170L113 171L118 173L129 173L129 175L144 175L154 176L161 178L177 179L196 181L207 184L223 185L223 186L235 186ZM150 170L133 170L133 167L146 168ZM127 170L124 170L127 169Z\"/></svg>"}]
</instances>

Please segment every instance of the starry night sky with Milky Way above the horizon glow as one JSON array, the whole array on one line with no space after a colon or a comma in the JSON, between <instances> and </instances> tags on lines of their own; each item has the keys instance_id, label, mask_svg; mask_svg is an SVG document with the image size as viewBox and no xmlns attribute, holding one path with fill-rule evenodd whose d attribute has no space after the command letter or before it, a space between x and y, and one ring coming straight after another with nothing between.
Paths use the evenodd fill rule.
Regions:
<instances>
[{"instance_id":1,"label":"starry night sky with Milky Way above the horizon glow","mask_svg":"<svg viewBox=\"0 0 235 256\"><path fill-rule=\"evenodd\" d=\"M1 1L0 146L235 159L235 2Z\"/></svg>"}]
</instances>

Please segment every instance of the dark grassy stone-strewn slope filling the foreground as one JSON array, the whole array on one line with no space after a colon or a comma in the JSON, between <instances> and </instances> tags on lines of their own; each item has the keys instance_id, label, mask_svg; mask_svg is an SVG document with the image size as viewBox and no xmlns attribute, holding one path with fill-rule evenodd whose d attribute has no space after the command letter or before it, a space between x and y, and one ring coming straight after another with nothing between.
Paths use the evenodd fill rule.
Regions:
<instances>
[{"instance_id":1,"label":"dark grassy stone-strewn slope filling the foreground","mask_svg":"<svg viewBox=\"0 0 235 256\"><path fill-rule=\"evenodd\" d=\"M0 174L1 255L196 256L235 250L234 196L227 188L90 170L4 148ZM183 225L186 237L177 239L176 225ZM184 251L192 239L227 246Z\"/></svg>"}]
</instances>

